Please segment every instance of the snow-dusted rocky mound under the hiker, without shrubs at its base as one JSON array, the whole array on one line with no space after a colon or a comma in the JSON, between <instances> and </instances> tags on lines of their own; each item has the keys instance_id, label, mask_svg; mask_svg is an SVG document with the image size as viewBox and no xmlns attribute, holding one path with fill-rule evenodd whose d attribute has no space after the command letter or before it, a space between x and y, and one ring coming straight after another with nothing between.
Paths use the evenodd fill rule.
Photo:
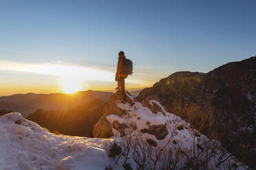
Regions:
<instances>
[{"instance_id":1,"label":"snow-dusted rocky mound under the hiker, without shrubs at its base","mask_svg":"<svg viewBox=\"0 0 256 170\"><path fill-rule=\"evenodd\" d=\"M180 158L177 165L175 165L177 169L182 169L191 160L206 161L206 165L202 169L246 168L234 156L229 154L219 141L211 140L204 134L200 134L198 130L193 129L189 123L180 117L167 112L156 99L134 102L131 95L127 93L127 98L131 98L130 101L132 102L122 104L118 97L110 98L111 101L108 102L101 121L98 121L94 126L94 132L106 132L107 130L108 137L115 136L120 141L123 141L120 144L123 150L128 146L127 140L130 140L136 145L142 145L143 149L151 149L151 153L156 153L162 148L167 151L166 154L183 152L183 154L180 154L183 158ZM102 126L103 120L106 126ZM97 136L97 134L99 133L94 133L94 137L106 136L103 133L100 136ZM147 146L145 142L150 146ZM134 155L132 152L137 149L134 147L129 149L128 157L130 161L128 162L131 167L136 164L136 161L134 162L133 160ZM140 154L145 154L142 153L143 149ZM211 156L209 156L210 154ZM152 157L154 156L156 155L152 154ZM153 158L150 159L147 162L148 167L146 169L153 168ZM193 165L191 166L193 167ZM160 167L155 168L158 169ZM134 169L136 169L136 166Z\"/></svg>"}]
</instances>

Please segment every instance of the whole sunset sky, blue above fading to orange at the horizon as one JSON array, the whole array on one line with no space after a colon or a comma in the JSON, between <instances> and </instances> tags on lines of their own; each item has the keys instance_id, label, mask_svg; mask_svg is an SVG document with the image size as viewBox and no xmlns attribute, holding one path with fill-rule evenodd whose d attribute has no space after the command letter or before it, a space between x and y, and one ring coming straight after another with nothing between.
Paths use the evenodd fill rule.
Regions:
<instances>
[{"instance_id":1,"label":"whole sunset sky, blue above fading to orange at the horizon","mask_svg":"<svg viewBox=\"0 0 256 170\"><path fill-rule=\"evenodd\" d=\"M128 89L256 55L256 1L0 1L0 96Z\"/></svg>"}]
</instances>

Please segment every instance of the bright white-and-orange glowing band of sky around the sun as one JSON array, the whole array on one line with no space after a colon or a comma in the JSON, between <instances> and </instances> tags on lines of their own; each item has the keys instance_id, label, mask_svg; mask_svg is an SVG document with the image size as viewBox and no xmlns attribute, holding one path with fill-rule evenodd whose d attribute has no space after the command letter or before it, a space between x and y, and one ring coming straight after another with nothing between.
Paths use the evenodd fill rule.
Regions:
<instances>
[{"instance_id":1,"label":"bright white-and-orange glowing band of sky around the sun","mask_svg":"<svg viewBox=\"0 0 256 170\"><path fill-rule=\"evenodd\" d=\"M0 71L4 71L0 82L0 96L17 93L76 93L79 90L114 92L115 69L90 68L67 64L31 64L0 60ZM160 77L156 71L134 68L135 73L127 77L127 90L138 90L152 86ZM12 77L13 76L13 77Z\"/></svg>"}]
</instances>

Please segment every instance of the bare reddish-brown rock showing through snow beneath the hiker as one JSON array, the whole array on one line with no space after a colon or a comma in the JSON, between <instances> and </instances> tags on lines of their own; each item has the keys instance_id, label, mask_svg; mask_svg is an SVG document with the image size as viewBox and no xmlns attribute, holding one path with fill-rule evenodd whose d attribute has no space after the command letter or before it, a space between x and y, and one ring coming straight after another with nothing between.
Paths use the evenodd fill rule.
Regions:
<instances>
[{"instance_id":1,"label":"bare reddish-brown rock showing through snow beneath the hiker","mask_svg":"<svg viewBox=\"0 0 256 170\"><path fill-rule=\"evenodd\" d=\"M117 130L120 132L120 136L125 135L125 129L130 126L133 130L137 130L136 123L132 123L130 125L127 125L126 123L120 123L117 120L114 120L112 123L107 121L106 117L109 115L116 115L118 117L126 117L129 116L129 110L122 109L118 104L121 104L120 101L122 99L121 94L119 91L117 91L116 95L112 95L109 97L109 101L107 102L104 110L103 110L103 117L94 125L94 137L95 138L109 138L111 136L114 136L114 133L112 132L112 127L114 130ZM131 97L129 92L127 92L127 104L129 106L134 106L134 99ZM145 99L143 102L141 102L143 107L149 108L151 110L151 114L160 114L165 115L165 110L160 106L160 104L157 104L157 101L151 101L150 99ZM136 107L135 107L136 108ZM139 119L138 119L139 120ZM145 120L143 120L145 121ZM149 121L146 122L146 125L149 126L149 128L145 128L140 130L142 133L148 133L152 134L153 136L156 136L158 140L162 140L167 134L169 133L167 130L167 126L165 124L163 125L151 125ZM149 141L149 143L153 144L152 141Z\"/></svg>"}]
</instances>

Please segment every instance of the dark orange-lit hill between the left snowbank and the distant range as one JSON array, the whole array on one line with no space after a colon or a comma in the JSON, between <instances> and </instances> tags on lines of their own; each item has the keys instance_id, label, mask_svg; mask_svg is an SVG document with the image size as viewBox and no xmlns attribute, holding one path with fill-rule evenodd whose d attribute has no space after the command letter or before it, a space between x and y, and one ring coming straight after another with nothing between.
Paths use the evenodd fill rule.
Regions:
<instances>
[{"instance_id":1,"label":"dark orange-lit hill between the left snowbank and the distant range","mask_svg":"<svg viewBox=\"0 0 256 170\"><path fill-rule=\"evenodd\" d=\"M50 132L92 137L94 125L102 116L105 104L105 101L100 99L92 99L92 101L75 106L71 110L36 110L28 116L28 120L38 123L41 127L46 127Z\"/></svg>"}]
</instances>

